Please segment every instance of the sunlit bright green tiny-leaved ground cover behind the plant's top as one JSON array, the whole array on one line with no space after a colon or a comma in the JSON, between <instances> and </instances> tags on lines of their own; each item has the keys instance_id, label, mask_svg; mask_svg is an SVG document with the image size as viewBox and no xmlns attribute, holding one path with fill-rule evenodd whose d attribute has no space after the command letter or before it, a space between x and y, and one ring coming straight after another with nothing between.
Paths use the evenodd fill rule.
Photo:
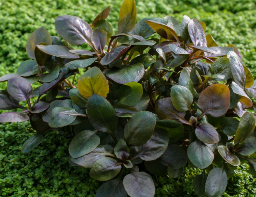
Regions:
<instances>
[{"instance_id":1,"label":"sunlit bright green tiny-leaved ground cover behind the plant's top","mask_svg":"<svg viewBox=\"0 0 256 197\"><path fill-rule=\"evenodd\" d=\"M210 33L220 44L233 43L240 49L244 64L255 73L255 0L246 1L167 1L137 0L137 19L146 16L164 17L172 14L178 21L183 15L196 18L207 24ZM99 9L112 6L108 21L117 27L121 0L82 0L69 2L18 0L0 2L0 75L14 73L18 65L29 57L25 52L29 34L39 27L47 27L51 35L57 35L54 19L61 15L75 15L88 23L96 17ZM145 6L147 5L147 6ZM165 6L168 5L168 6ZM86 15L84 14L86 10ZM220 11L221 10L221 11ZM209 30L209 31L208 31ZM11 66L10 66L11 65Z\"/></svg>"}]
</instances>

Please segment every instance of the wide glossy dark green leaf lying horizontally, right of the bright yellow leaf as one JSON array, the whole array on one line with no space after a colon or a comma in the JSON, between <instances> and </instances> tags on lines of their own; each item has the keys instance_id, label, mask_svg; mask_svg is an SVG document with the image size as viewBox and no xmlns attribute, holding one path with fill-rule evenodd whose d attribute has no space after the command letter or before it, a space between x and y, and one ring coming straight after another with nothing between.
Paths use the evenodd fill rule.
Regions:
<instances>
[{"instance_id":1,"label":"wide glossy dark green leaf lying horizontally, right of the bright yellow leaf","mask_svg":"<svg viewBox=\"0 0 256 197\"><path fill-rule=\"evenodd\" d=\"M138 82L145 73L143 64L137 63L128 65L120 69L111 69L106 72L106 76L121 84Z\"/></svg>"}]
</instances>

